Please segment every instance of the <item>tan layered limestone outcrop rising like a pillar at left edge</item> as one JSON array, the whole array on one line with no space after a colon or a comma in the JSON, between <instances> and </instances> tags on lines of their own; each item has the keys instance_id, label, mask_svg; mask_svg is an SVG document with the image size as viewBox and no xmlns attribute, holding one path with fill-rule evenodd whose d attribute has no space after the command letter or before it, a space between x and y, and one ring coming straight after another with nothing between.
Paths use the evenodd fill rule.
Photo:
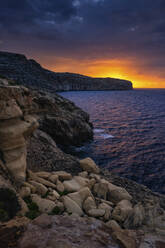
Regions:
<instances>
[{"instance_id":1,"label":"tan layered limestone outcrop rising like a pillar at left edge","mask_svg":"<svg viewBox=\"0 0 165 248\"><path fill-rule=\"evenodd\" d=\"M38 127L29 115L32 99L24 87L0 86L0 153L16 182L26 178L26 138Z\"/></svg>"}]
</instances>

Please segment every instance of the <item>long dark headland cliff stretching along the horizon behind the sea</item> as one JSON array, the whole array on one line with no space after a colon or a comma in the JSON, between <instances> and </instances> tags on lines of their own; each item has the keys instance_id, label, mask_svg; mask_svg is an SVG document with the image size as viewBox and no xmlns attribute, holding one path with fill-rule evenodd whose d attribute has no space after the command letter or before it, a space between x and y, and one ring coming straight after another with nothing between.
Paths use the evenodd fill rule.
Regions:
<instances>
[{"instance_id":1,"label":"long dark headland cliff stretching along the horizon behind the sea","mask_svg":"<svg viewBox=\"0 0 165 248\"><path fill-rule=\"evenodd\" d=\"M35 89L49 92L70 90L131 90L132 83L114 78L92 78L74 73L56 73L24 55L0 52L0 75Z\"/></svg>"}]
</instances>

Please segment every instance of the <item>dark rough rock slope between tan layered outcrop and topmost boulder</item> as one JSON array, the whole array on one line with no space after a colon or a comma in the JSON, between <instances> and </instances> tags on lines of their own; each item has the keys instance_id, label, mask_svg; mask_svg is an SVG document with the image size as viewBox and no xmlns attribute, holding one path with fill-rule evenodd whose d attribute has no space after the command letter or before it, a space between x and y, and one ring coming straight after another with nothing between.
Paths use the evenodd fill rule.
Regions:
<instances>
[{"instance_id":1,"label":"dark rough rock slope between tan layered outcrop and topmost boulder","mask_svg":"<svg viewBox=\"0 0 165 248\"><path fill-rule=\"evenodd\" d=\"M77 173L81 171L79 161L57 147L45 132L36 130L27 145L27 166L32 171L59 171ZM46 179L46 178L45 178Z\"/></svg>"}]
</instances>

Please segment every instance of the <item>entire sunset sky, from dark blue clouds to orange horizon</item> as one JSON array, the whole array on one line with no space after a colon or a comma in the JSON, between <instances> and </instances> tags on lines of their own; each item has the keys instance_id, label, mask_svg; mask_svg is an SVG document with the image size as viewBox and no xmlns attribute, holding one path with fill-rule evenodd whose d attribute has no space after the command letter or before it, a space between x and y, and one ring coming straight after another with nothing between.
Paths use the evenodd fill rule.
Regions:
<instances>
[{"instance_id":1,"label":"entire sunset sky, from dark blue clouds to orange horizon","mask_svg":"<svg viewBox=\"0 0 165 248\"><path fill-rule=\"evenodd\" d=\"M0 50L56 72L165 88L165 0L5 0Z\"/></svg>"}]
</instances>

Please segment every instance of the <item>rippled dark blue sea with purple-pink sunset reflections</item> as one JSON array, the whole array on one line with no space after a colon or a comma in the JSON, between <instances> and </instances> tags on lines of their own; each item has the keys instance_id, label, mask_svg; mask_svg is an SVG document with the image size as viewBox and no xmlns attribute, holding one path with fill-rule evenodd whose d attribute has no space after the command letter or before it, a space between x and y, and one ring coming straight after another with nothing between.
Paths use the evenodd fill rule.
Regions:
<instances>
[{"instance_id":1,"label":"rippled dark blue sea with purple-pink sunset reflections","mask_svg":"<svg viewBox=\"0 0 165 248\"><path fill-rule=\"evenodd\" d=\"M165 193L165 90L60 94L88 112L94 125L94 140L73 154Z\"/></svg>"}]
</instances>

